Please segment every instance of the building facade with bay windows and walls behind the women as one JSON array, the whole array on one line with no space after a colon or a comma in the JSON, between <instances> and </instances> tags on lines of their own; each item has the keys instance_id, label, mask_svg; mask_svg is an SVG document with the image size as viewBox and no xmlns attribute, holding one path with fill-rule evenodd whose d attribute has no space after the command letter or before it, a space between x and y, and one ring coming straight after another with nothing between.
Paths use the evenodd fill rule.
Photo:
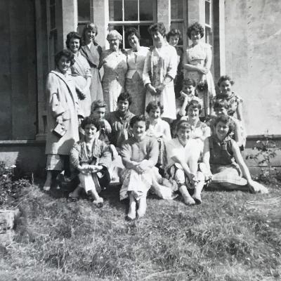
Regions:
<instances>
[{"instance_id":1,"label":"building facade with bay windows and walls behind the women","mask_svg":"<svg viewBox=\"0 0 281 281\"><path fill-rule=\"evenodd\" d=\"M136 27L141 44L150 46L152 22L164 22L166 30L180 29L180 44L185 48L188 25L200 22L205 41L213 46L214 80L221 74L232 75L235 90L244 99L249 140L266 129L278 136L281 83L277 70L281 61L277 41L281 32L273 31L274 22L280 22L280 8L277 0L1 0L0 159L18 162L26 169L44 167L46 75L54 67L55 53L65 47L67 33L81 32L89 21L98 26L96 39L103 48L108 47L110 30L124 37L128 27ZM123 46L128 47L126 40ZM270 69L272 61L274 70ZM268 82L274 84L270 101L262 90ZM270 116L263 117L271 106ZM265 118L267 122L262 122Z\"/></svg>"}]
</instances>

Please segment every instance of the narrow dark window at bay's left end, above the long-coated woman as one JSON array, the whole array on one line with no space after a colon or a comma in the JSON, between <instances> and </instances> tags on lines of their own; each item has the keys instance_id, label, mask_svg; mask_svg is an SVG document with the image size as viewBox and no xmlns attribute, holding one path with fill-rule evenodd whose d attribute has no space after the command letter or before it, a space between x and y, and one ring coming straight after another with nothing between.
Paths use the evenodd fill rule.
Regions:
<instances>
[{"instance_id":1,"label":"narrow dark window at bay's left end, above the long-coated woman","mask_svg":"<svg viewBox=\"0 0 281 281\"><path fill-rule=\"evenodd\" d=\"M48 17L48 70L55 68L54 55L58 52L58 30L56 25L55 0L47 1Z\"/></svg>"}]
</instances>

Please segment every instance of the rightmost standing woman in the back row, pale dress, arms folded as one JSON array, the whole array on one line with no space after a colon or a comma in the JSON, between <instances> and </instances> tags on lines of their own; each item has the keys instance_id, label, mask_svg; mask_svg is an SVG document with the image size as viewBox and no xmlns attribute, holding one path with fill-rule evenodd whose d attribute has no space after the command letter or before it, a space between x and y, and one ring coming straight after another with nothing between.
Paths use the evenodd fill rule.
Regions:
<instances>
[{"instance_id":1,"label":"rightmost standing woman in the back row, pale dress, arms folded","mask_svg":"<svg viewBox=\"0 0 281 281\"><path fill-rule=\"evenodd\" d=\"M195 22L188 27L188 37L192 44L188 46L183 57L184 78L194 79L198 96L202 100L202 116L210 115L211 99L216 96L214 80L210 72L211 45L202 42L204 28Z\"/></svg>"}]
</instances>

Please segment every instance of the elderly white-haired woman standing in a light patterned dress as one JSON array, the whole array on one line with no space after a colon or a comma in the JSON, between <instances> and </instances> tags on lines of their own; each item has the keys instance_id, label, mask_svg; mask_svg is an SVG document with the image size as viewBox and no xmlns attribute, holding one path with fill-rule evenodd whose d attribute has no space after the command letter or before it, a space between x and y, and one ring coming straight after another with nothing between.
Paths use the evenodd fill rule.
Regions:
<instances>
[{"instance_id":1,"label":"elderly white-haired woman standing in a light patterned dress","mask_svg":"<svg viewBox=\"0 0 281 281\"><path fill-rule=\"evenodd\" d=\"M124 92L125 74L127 71L126 53L119 48L122 35L117 30L112 30L106 37L110 48L103 51L103 98L107 110L112 112L117 109L117 98Z\"/></svg>"}]
</instances>

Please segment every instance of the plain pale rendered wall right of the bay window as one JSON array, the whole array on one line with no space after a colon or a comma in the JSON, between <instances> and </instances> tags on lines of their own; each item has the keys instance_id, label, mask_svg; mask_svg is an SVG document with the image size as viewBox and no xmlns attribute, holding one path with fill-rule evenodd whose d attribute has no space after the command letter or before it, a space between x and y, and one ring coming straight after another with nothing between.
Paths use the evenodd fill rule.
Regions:
<instances>
[{"instance_id":1,"label":"plain pale rendered wall right of the bay window","mask_svg":"<svg viewBox=\"0 0 281 281\"><path fill-rule=\"evenodd\" d=\"M249 136L281 134L281 1L226 0L226 74Z\"/></svg>"}]
</instances>

